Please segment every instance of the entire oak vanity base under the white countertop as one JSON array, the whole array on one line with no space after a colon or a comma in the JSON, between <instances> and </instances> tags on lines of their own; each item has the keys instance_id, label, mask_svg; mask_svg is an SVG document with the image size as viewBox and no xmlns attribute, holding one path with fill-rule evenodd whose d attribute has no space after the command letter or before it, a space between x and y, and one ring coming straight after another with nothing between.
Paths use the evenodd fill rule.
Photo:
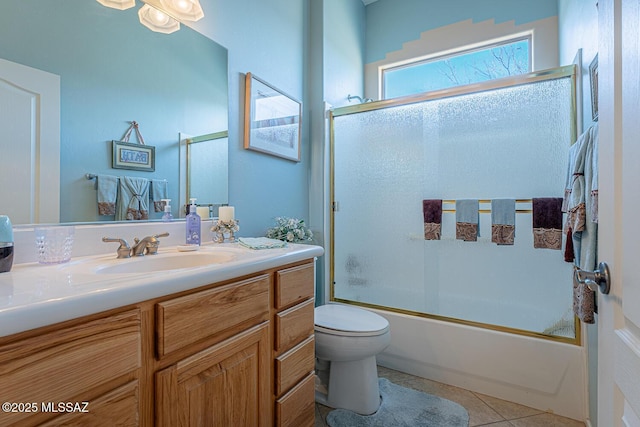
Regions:
<instances>
[{"instance_id":1,"label":"entire oak vanity base under the white countertop","mask_svg":"<svg viewBox=\"0 0 640 427\"><path fill-rule=\"evenodd\" d=\"M0 426L314 425L314 262L0 338Z\"/></svg>"}]
</instances>

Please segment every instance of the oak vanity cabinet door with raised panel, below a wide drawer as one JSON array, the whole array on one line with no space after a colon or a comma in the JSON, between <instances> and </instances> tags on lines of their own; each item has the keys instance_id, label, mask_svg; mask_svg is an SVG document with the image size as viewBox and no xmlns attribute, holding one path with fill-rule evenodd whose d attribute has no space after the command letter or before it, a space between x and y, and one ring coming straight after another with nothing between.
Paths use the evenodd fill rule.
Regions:
<instances>
[{"instance_id":1,"label":"oak vanity cabinet door with raised panel, below a wide drawer","mask_svg":"<svg viewBox=\"0 0 640 427\"><path fill-rule=\"evenodd\" d=\"M156 374L156 425L271 425L269 323Z\"/></svg>"}]
</instances>

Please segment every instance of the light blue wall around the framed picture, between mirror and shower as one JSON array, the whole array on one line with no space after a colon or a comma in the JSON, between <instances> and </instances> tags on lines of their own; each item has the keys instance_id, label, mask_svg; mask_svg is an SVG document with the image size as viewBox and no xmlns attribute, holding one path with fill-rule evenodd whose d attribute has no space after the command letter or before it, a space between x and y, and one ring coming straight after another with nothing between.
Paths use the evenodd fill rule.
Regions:
<instances>
[{"instance_id":1,"label":"light blue wall around the framed picture, between mirror and shower","mask_svg":"<svg viewBox=\"0 0 640 427\"><path fill-rule=\"evenodd\" d=\"M262 236L276 216L309 219L309 105L305 73L309 0L202 0L193 26L229 50L229 202L240 236ZM244 76L302 100L302 160L243 148Z\"/></svg>"}]
</instances>

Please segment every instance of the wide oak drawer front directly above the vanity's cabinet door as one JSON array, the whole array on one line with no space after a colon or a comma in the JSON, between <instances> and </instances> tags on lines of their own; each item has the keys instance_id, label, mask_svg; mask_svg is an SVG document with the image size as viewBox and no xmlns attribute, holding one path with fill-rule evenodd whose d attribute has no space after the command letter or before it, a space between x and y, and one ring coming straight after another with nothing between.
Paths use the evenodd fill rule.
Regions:
<instances>
[{"instance_id":1,"label":"wide oak drawer front directly above the vanity's cabinet door","mask_svg":"<svg viewBox=\"0 0 640 427\"><path fill-rule=\"evenodd\" d=\"M156 305L158 355L221 334L228 337L269 318L268 274Z\"/></svg>"}]
</instances>

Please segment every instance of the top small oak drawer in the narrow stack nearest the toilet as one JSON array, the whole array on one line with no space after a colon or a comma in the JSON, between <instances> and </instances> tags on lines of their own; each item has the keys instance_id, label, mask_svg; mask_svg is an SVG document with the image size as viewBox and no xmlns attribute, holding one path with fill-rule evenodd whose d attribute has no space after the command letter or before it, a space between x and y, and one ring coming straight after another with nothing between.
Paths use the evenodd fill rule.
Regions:
<instances>
[{"instance_id":1,"label":"top small oak drawer in the narrow stack nearest the toilet","mask_svg":"<svg viewBox=\"0 0 640 427\"><path fill-rule=\"evenodd\" d=\"M314 296L314 263L276 272L276 309Z\"/></svg>"}]
</instances>

